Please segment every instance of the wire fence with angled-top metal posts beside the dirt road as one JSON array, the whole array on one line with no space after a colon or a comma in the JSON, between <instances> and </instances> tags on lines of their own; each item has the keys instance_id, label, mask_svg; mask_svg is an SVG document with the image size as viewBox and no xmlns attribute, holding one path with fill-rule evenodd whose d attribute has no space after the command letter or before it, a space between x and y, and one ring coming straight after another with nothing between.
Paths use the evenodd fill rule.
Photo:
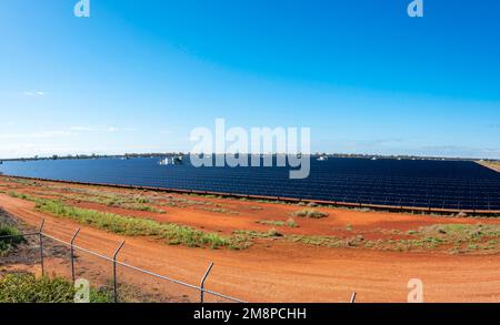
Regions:
<instances>
[{"instance_id":1,"label":"wire fence with angled-top metal posts beside the dirt road","mask_svg":"<svg viewBox=\"0 0 500 325\"><path fill-rule=\"evenodd\" d=\"M213 263L204 274L200 274L200 285L196 285L123 262L119 254L124 242L107 255L86 248L82 245L84 241L78 242L78 234L79 230L73 236L52 230L48 234L43 232L43 223L38 232L20 234L29 241L28 254L23 254L26 262L40 265L42 275L63 276L73 282L83 278L91 284L93 294L108 296L114 302L243 303L204 286ZM0 236L0 240L6 238ZM2 263L9 261L2 258L0 265Z\"/></svg>"}]
</instances>

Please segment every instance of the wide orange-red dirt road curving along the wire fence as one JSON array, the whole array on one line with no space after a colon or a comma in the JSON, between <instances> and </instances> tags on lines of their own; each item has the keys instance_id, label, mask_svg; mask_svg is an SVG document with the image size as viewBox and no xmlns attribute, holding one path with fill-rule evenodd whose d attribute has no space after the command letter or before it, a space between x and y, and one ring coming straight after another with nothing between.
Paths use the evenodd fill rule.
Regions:
<instances>
[{"instance_id":1,"label":"wide orange-red dirt road curving along the wire fence","mask_svg":"<svg viewBox=\"0 0 500 325\"><path fill-rule=\"evenodd\" d=\"M44 217L46 232L64 241L81 227L77 244L108 256L126 240L120 261L188 283L198 284L214 262L207 287L249 302L347 302L353 291L358 302L406 302L410 278L423 281L426 302L500 302L498 255L342 250L286 242L256 244L239 252L189 248L86 227L37 212L33 203L4 194L0 194L0 206L31 225ZM336 216L346 216L336 211ZM370 224L367 213L362 215L362 222L349 215L351 224ZM384 216L373 215L373 223ZM413 219L389 215L390 222Z\"/></svg>"}]
</instances>

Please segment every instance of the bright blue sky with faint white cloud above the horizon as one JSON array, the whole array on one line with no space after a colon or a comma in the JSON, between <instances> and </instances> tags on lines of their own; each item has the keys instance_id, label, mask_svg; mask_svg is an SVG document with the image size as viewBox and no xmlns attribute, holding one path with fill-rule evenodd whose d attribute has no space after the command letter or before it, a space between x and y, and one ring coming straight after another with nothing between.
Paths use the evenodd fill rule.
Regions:
<instances>
[{"instance_id":1,"label":"bright blue sky with faint white cloud above the horizon","mask_svg":"<svg viewBox=\"0 0 500 325\"><path fill-rule=\"evenodd\" d=\"M312 150L500 158L500 2L2 0L0 158L189 151L309 126Z\"/></svg>"}]
</instances>

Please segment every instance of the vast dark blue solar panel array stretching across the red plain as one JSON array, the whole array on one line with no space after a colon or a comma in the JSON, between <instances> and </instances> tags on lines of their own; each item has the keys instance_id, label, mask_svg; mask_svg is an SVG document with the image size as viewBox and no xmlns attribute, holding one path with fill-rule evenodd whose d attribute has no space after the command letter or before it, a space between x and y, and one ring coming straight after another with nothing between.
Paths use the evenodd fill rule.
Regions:
<instances>
[{"instance_id":1,"label":"vast dark blue solar panel array stretching across the red plain","mask_svg":"<svg viewBox=\"0 0 500 325\"><path fill-rule=\"evenodd\" d=\"M4 174L363 205L500 211L500 174L468 161L329 159L309 177L288 167L193 167L158 159L6 162Z\"/></svg>"}]
</instances>

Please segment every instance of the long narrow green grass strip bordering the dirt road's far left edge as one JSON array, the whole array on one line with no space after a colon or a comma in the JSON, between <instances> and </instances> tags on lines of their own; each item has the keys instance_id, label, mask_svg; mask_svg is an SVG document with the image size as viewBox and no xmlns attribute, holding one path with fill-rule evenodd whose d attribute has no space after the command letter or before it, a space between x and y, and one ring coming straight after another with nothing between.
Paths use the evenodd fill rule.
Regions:
<instances>
[{"instance_id":1,"label":"long narrow green grass strip bordering the dirt road's far left edge","mask_svg":"<svg viewBox=\"0 0 500 325\"><path fill-rule=\"evenodd\" d=\"M31 197L23 194L18 195L17 193L11 193L11 195L14 197L22 196L24 200L36 202L36 207L39 211L48 212L59 217L71 219L81 224L126 236L158 236L167 240L171 245L186 245L189 247L247 247L247 244L240 247L240 238L223 237L214 233L203 233L173 223L159 223L152 220L69 206L60 201Z\"/></svg>"}]
</instances>

